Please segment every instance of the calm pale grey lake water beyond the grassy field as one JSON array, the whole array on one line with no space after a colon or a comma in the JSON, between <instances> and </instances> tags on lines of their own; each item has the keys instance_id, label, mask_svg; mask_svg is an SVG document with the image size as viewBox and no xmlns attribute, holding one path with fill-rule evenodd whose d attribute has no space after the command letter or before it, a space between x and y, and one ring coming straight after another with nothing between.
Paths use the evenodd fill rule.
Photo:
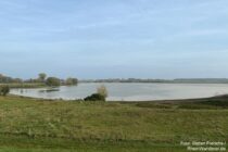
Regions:
<instances>
[{"instance_id":1,"label":"calm pale grey lake water beyond the grassy field","mask_svg":"<svg viewBox=\"0 0 228 152\"><path fill-rule=\"evenodd\" d=\"M60 87L60 91L41 92L41 89L13 89L11 93L45 99L83 99L104 85L109 101L144 101L166 99L205 98L228 93L228 84L79 84Z\"/></svg>"}]
</instances>

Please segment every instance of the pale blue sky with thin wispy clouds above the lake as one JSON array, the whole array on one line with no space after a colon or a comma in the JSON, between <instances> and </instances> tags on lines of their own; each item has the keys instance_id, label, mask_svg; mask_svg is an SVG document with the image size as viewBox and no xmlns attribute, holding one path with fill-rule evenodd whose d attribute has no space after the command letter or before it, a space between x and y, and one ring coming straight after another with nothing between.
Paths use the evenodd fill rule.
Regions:
<instances>
[{"instance_id":1,"label":"pale blue sky with thin wispy clouds above the lake","mask_svg":"<svg viewBox=\"0 0 228 152\"><path fill-rule=\"evenodd\" d=\"M0 0L0 73L228 78L228 0Z\"/></svg>"}]
</instances>

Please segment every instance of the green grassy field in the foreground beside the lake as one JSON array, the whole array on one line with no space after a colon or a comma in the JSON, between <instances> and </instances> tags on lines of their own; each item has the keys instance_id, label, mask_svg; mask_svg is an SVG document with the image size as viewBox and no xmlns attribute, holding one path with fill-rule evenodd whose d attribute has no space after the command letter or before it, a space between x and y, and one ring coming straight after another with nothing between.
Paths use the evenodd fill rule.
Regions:
<instances>
[{"instance_id":1,"label":"green grassy field in the foreground beside the lake","mask_svg":"<svg viewBox=\"0 0 228 152\"><path fill-rule=\"evenodd\" d=\"M0 97L0 152L182 152L228 142L228 97L162 102L66 102Z\"/></svg>"}]
</instances>

